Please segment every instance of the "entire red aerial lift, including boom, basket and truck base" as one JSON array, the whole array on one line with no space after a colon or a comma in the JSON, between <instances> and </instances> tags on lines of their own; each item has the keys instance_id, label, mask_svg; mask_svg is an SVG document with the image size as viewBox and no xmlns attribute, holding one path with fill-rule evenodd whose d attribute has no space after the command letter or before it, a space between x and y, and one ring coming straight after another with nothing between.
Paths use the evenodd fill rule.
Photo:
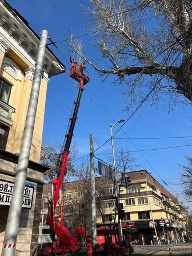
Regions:
<instances>
[{"instance_id":1,"label":"entire red aerial lift, including boom, basket and truck base","mask_svg":"<svg viewBox=\"0 0 192 256\"><path fill-rule=\"evenodd\" d=\"M127 246L119 247L118 244L106 243L105 245L96 246L92 248L91 237L87 238L87 247L78 245L78 238L75 237L73 233L65 225L63 225L63 213L62 205L60 203L61 220L55 218L55 208L57 206L58 199L60 197L60 189L63 181L63 176L66 174L66 163L69 155L71 139L73 137L73 131L75 127L75 122L77 120L77 114L79 109L79 104L81 101L81 95L84 90L86 83L90 81L89 75L85 75L79 72L75 67L70 69L70 77L79 82L79 91L77 100L74 102L75 107L73 111L73 116L70 117L70 126L67 131L65 138L64 150L60 155L59 163L59 174L57 178L51 181L52 186L52 199L50 203L49 213L47 214L46 224L50 226L51 239L53 243L49 246L44 246L38 250L38 255L73 255L73 256L91 256L91 255L107 255L107 254L126 254L129 253ZM85 231L82 227L76 229L77 235L82 235ZM92 254L93 253L93 254Z\"/></svg>"}]
</instances>

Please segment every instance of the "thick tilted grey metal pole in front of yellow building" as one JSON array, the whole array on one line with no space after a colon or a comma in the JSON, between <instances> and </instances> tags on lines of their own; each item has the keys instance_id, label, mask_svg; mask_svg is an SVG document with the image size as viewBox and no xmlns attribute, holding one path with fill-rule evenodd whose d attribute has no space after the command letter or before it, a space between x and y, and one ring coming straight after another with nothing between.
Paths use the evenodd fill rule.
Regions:
<instances>
[{"instance_id":1,"label":"thick tilted grey metal pole in front of yellow building","mask_svg":"<svg viewBox=\"0 0 192 256\"><path fill-rule=\"evenodd\" d=\"M13 194L11 198L11 204L9 207L9 215L7 218L5 237L3 241L2 256L15 255L15 247L17 242L18 227L21 216L23 193L25 189L27 167L29 164L31 141L33 137L33 129L35 123L35 115L37 111L43 63L45 59L47 34L48 33L46 30L42 30L37 54L37 62L34 71L34 79L31 87L29 106L27 110L25 128L23 131L21 150L19 154L17 169L15 170L15 181L13 187Z\"/></svg>"}]
</instances>

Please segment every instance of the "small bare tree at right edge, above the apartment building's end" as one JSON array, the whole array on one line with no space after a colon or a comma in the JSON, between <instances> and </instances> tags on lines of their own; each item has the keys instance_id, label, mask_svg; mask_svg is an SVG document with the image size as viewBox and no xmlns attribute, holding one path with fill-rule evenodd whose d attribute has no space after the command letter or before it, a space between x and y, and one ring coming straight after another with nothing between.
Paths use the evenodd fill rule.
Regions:
<instances>
[{"instance_id":1,"label":"small bare tree at right edge, above the apartment building's end","mask_svg":"<svg viewBox=\"0 0 192 256\"><path fill-rule=\"evenodd\" d=\"M192 158L186 157L188 165L180 165L183 169L182 185L184 194L192 198Z\"/></svg>"}]
</instances>

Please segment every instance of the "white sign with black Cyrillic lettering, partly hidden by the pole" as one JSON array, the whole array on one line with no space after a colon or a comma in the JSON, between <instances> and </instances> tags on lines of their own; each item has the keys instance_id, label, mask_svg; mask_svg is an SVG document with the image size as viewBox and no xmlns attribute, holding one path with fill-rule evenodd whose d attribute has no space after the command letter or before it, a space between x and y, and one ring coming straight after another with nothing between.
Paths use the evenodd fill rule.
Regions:
<instances>
[{"instance_id":1,"label":"white sign with black Cyrillic lettering, partly hidden by the pole","mask_svg":"<svg viewBox=\"0 0 192 256\"><path fill-rule=\"evenodd\" d=\"M0 205L10 205L14 183L0 180ZM34 187L25 186L22 208L31 209Z\"/></svg>"}]
</instances>

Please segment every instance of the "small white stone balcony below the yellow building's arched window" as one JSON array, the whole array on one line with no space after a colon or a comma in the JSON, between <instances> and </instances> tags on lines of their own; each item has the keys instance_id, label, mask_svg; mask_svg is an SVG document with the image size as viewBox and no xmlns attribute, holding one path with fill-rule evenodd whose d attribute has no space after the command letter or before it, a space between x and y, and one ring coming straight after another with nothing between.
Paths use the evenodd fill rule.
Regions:
<instances>
[{"instance_id":1,"label":"small white stone balcony below the yellow building's arched window","mask_svg":"<svg viewBox=\"0 0 192 256\"><path fill-rule=\"evenodd\" d=\"M13 120L11 119L12 113L15 112L14 107L11 107L7 103L0 101L0 121L6 123L9 126L13 125Z\"/></svg>"}]
</instances>

